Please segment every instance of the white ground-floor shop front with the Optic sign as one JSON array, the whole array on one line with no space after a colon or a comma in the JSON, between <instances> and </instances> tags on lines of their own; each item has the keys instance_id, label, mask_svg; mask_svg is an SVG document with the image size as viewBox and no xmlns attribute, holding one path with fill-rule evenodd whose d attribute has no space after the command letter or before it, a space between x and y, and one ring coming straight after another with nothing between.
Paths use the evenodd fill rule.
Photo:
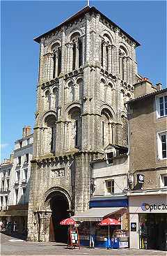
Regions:
<instances>
[{"instance_id":1,"label":"white ground-floor shop front with the Optic sign","mask_svg":"<svg viewBox=\"0 0 167 256\"><path fill-rule=\"evenodd\" d=\"M167 250L167 194L129 193L130 248Z\"/></svg>"}]
</instances>

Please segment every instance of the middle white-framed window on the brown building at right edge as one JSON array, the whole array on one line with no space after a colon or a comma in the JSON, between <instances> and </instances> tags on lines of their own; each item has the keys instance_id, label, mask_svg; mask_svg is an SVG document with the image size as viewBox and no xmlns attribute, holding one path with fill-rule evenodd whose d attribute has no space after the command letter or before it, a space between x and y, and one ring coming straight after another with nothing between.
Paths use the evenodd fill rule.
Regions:
<instances>
[{"instance_id":1,"label":"middle white-framed window on the brown building at right edge","mask_svg":"<svg viewBox=\"0 0 167 256\"><path fill-rule=\"evenodd\" d=\"M167 151L167 132L158 133L158 157L159 159L166 158Z\"/></svg>"}]
</instances>

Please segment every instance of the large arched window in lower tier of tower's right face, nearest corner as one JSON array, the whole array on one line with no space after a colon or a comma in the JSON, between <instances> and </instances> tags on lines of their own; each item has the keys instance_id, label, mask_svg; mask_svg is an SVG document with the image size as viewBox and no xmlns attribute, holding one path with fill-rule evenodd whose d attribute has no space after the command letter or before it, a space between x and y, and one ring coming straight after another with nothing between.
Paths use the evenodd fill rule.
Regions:
<instances>
[{"instance_id":1,"label":"large arched window in lower tier of tower's right face, nearest corner","mask_svg":"<svg viewBox=\"0 0 167 256\"><path fill-rule=\"evenodd\" d=\"M102 110L101 126L102 126L102 146L112 143L112 121L113 116L107 109Z\"/></svg>"}]
</instances>

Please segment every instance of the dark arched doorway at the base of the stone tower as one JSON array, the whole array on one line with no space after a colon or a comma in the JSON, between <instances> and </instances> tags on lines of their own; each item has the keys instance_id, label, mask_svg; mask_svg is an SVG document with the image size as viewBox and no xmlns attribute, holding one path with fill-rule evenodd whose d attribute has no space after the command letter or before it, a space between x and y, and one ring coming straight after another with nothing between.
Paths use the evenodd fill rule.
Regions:
<instances>
[{"instance_id":1,"label":"dark arched doorway at the base of the stone tower","mask_svg":"<svg viewBox=\"0 0 167 256\"><path fill-rule=\"evenodd\" d=\"M67 198L61 192L54 192L50 195L51 221L49 241L67 243L67 226L60 225L61 220L69 217L69 204Z\"/></svg>"}]
</instances>

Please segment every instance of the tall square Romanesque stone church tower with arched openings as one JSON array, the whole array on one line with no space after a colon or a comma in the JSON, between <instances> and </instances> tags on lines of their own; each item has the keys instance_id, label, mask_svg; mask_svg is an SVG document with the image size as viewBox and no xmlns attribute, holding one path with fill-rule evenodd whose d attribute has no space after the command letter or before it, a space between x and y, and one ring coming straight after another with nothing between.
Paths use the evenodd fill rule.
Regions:
<instances>
[{"instance_id":1,"label":"tall square Romanesque stone church tower with arched openings","mask_svg":"<svg viewBox=\"0 0 167 256\"><path fill-rule=\"evenodd\" d=\"M63 218L88 209L90 161L127 146L126 100L139 43L86 6L35 38L40 65L28 229L31 241L62 241Z\"/></svg>"}]
</instances>

